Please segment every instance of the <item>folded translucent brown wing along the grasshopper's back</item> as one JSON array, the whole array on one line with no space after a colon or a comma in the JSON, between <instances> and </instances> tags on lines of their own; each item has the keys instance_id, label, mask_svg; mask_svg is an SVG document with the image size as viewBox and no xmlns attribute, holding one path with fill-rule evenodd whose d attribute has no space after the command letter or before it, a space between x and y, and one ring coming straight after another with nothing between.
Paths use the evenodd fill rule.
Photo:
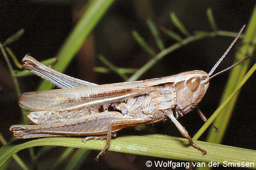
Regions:
<instances>
[{"instance_id":1,"label":"folded translucent brown wing along the grasshopper's back","mask_svg":"<svg viewBox=\"0 0 256 170\"><path fill-rule=\"evenodd\" d=\"M67 111L104 103L120 102L147 94L143 81L102 84L67 89L27 92L19 104L34 111Z\"/></svg>"}]
</instances>

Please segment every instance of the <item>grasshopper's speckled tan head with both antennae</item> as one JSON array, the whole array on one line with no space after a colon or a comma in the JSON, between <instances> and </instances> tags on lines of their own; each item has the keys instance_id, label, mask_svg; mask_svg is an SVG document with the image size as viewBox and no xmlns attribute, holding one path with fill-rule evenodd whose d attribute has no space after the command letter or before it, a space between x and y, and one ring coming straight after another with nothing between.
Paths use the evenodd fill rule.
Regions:
<instances>
[{"instance_id":1,"label":"grasshopper's speckled tan head with both antennae","mask_svg":"<svg viewBox=\"0 0 256 170\"><path fill-rule=\"evenodd\" d=\"M213 77L215 77L218 74L221 74L223 72L226 72L227 70L230 70L234 66L242 63L249 57L246 57L242 59L240 62L233 64L232 66L212 75L214 70L218 67L218 65L221 63L221 61L226 57L228 54L228 51L232 48L240 34L242 33L245 25L240 29L238 35L233 40L233 42L230 44L226 52L220 57L220 59L217 61L217 63L212 67L210 72L207 74L204 71L200 70L194 70L194 71L188 71L183 72L180 74L177 74L177 79L175 83L175 91L177 93L177 99L176 99L176 117L182 116L184 113L188 113L197 106L197 104L202 100L204 97L204 94L206 93L206 90L209 86L209 80Z\"/></svg>"}]
</instances>

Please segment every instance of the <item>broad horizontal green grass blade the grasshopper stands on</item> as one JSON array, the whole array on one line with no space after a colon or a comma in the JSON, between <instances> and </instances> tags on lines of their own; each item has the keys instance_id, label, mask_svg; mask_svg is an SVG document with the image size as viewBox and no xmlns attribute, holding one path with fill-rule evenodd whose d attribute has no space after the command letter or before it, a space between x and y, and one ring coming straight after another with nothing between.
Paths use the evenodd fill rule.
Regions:
<instances>
[{"instance_id":1,"label":"broad horizontal green grass blade the grasshopper stands on","mask_svg":"<svg viewBox=\"0 0 256 170\"><path fill-rule=\"evenodd\" d=\"M194 142L201 148L207 150L207 154L203 156L200 151L189 146L188 140L185 138L171 137L167 135L116 137L115 139L111 140L109 150L196 162L214 161L220 162L220 164L222 164L223 161L226 160L228 162L254 162L254 164L256 164L255 150L206 143L202 141ZM2 164L12 154L28 147L51 145L101 150L104 148L105 144L105 140L91 140L86 141L86 143L82 143L81 138L70 137L36 139L22 143L20 145L8 143L0 149L0 166L2 166Z\"/></svg>"}]
</instances>

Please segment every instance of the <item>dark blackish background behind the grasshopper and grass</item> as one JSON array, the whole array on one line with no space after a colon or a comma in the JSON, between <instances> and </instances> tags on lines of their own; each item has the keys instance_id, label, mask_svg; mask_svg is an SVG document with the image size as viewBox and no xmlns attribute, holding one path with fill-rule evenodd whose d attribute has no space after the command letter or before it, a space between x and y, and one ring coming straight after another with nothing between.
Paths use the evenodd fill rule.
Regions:
<instances>
[{"instance_id":1,"label":"dark blackish background behind the grasshopper and grass","mask_svg":"<svg viewBox=\"0 0 256 170\"><path fill-rule=\"evenodd\" d=\"M40 2L3 1L0 4L0 42L3 43L6 38L23 28L25 30L24 35L15 43L8 45L17 56L18 61L21 61L27 53L38 61L54 57L78 20L79 12L85 3L79 0L72 3L70 1L50 0ZM98 55L104 55L119 67L140 68L143 66L151 57L133 39L133 30L138 31L148 44L159 52L146 24L147 18L151 18L158 28L164 26L180 33L169 17L170 12L175 12L190 33L195 30L211 31L206 10L212 8L216 24L220 30L238 32L242 25L248 23L254 3L254 0L214 0L207 2L202 0L117 0L92 31L66 69L65 74L97 84L122 82L122 78L115 73L100 74L93 71L94 66L104 66L98 59ZM161 31L160 36L165 47L170 47L176 43ZM232 37L220 36L194 41L166 55L139 79L168 76L188 70L209 72L232 41ZM234 52L239 44L240 41L238 40L218 70L227 68L233 63ZM8 141L12 137L8 129L10 125L20 122L21 111L10 72L2 54L0 56L0 132ZM255 57L252 58L252 63L255 63ZM250 64L250 67L252 65ZM206 117L210 117L218 107L227 77L228 73L224 73L211 80L210 87L199 105ZM28 92L35 90L41 79L30 76L18 80L22 92ZM255 88L254 73L240 91L222 144L255 149ZM190 136L193 136L203 125L195 111L180 118L179 121L186 127ZM169 120L146 127L147 129L144 131L146 134L160 133L180 137L180 132ZM118 133L118 135L122 134L139 135L140 132L134 129L124 129ZM206 135L207 131L200 137L200 140L204 141ZM48 162L49 159L58 158L63 148L56 147L53 150L56 152L50 151L39 158L42 164L45 161ZM96 154L98 154L98 150L93 150L89 156L84 157L84 163L81 164L80 168L139 169L146 167L146 160L164 160L106 152L100 157L99 162L94 162L93 158ZM24 162L29 162L28 150L22 150L18 152L18 155Z\"/></svg>"}]
</instances>

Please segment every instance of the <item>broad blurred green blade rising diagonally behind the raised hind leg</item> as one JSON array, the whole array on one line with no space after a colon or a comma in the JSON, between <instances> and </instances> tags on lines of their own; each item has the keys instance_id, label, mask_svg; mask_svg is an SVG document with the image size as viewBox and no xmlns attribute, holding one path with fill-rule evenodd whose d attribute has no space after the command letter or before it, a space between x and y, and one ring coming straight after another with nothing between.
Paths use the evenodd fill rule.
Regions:
<instances>
[{"instance_id":1,"label":"broad blurred green blade rising diagonally behind the raised hind leg","mask_svg":"<svg viewBox=\"0 0 256 170\"><path fill-rule=\"evenodd\" d=\"M87 2L89 3L88 8L56 55L58 63L52 67L54 70L63 72L66 69L86 37L90 34L113 2L114 0L90 0ZM42 81L38 91L49 90L51 88L52 84Z\"/></svg>"}]
</instances>

